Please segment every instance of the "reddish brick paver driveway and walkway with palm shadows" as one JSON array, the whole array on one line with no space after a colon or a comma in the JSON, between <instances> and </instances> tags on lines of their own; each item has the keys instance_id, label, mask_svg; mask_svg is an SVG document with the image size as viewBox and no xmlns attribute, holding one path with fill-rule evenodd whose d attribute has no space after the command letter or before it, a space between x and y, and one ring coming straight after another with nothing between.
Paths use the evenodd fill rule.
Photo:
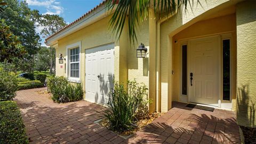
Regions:
<instances>
[{"instance_id":1,"label":"reddish brick paver driveway and walkway with palm shadows","mask_svg":"<svg viewBox=\"0 0 256 144\"><path fill-rule=\"evenodd\" d=\"M53 103L37 90L42 88L18 91L16 98L30 143L241 143L234 112L173 103L170 111L125 140L94 123L104 107L84 100Z\"/></svg>"}]
</instances>

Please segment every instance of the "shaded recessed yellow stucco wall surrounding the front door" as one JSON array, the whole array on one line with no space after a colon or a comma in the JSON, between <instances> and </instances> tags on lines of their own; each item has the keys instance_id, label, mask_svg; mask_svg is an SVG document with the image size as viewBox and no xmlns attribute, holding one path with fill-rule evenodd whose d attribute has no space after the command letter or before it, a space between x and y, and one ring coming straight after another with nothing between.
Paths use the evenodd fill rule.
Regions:
<instances>
[{"instance_id":1,"label":"shaded recessed yellow stucco wall surrounding the front door","mask_svg":"<svg viewBox=\"0 0 256 144\"><path fill-rule=\"evenodd\" d=\"M181 96L181 43L191 38L207 37L212 35L231 34L231 99L235 110L236 100L236 15L226 15L209 20L199 21L192 26L180 31L173 36L173 101L182 101L180 98L187 99L187 96ZM185 101L183 101L185 102ZM228 101L222 101L222 103Z\"/></svg>"}]
</instances>

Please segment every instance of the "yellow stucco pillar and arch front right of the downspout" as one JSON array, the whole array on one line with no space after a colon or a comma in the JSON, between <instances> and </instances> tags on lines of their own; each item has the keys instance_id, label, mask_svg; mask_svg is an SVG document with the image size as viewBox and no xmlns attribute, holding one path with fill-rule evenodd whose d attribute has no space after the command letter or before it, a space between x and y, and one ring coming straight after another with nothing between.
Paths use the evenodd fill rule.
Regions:
<instances>
[{"instance_id":1,"label":"yellow stucco pillar and arch front right of the downspout","mask_svg":"<svg viewBox=\"0 0 256 144\"><path fill-rule=\"evenodd\" d=\"M190 8L186 14L181 11L177 16L169 18L161 24L160 34L160 96L161 96L161 110L167 111L171 108L171 101L174 95L173 86L175 81L173 80L173 39L172 37L183 29L188 28L192 24L210 17L212 14L217 13L220 10L226 9L230 5L234 5L237 1L225 1L225 0L213 0L213 1L201 1L201 6L193 5L191 12Z\"/></svg>"}]
</instances>

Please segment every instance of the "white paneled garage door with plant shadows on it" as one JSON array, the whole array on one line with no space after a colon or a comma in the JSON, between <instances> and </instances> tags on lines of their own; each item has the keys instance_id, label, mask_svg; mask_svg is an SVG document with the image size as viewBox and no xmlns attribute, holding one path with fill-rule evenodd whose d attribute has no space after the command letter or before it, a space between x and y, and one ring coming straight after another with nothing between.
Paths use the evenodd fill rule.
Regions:
<instances>
[{"instance_id":1,"label":"white paneled garage door with plant shadows on it","mask_svg":"<svg viewBox=\"0 0 256 144\"><path fill-rule=\"evenodd\" d=\"M107 104L114 80L114 44L85 50L85 99Z\"/></svg>"}]
</instances>

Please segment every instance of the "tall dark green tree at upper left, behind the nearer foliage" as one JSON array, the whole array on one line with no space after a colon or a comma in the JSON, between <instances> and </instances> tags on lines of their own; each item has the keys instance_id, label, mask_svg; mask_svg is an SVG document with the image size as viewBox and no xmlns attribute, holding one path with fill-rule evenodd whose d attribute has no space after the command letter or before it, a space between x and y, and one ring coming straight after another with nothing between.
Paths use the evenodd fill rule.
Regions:
<instances>
[{"instance_id":1,"label":"tall dark green tree at upper left, behind the nearer foliage","mask_svg":"<svg viewBox=\"0 0 256 144\"><path fill-rule=\"evenodd\" d=\"M35 30L35 16L38 11L29 9L26 1L8 0L0 18L5 20L13 35L19 37L21 45L28 52L28 56L39 50L39 35Z\"/></svg>"}]
</instances>

